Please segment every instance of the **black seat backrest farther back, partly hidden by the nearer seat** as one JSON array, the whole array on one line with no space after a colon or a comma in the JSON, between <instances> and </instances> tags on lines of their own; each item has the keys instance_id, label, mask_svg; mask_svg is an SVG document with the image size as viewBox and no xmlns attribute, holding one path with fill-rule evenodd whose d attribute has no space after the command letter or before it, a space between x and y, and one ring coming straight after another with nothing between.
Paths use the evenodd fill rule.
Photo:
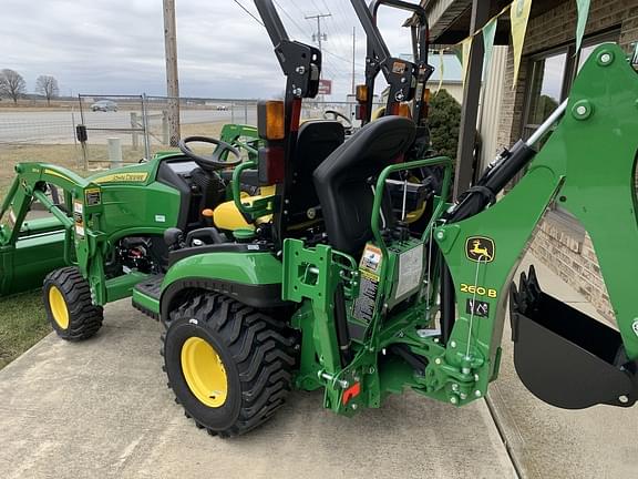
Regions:
<instances>
[{"instance_id":1,"label":"black seat backrest farther back, partly hidden by the nearer seat","mask_svg":"<svg viewBox=\"0 0 638 479\"><path fill-rule=\"evenodd\" d=\"M288 224L305 223L308 211L319 206L319 198L312 183L312 173L323 160L343 144L343 125L337 121L309 121L299 129L297 146L292 159L292 181L288 200Z\"/></svg>"}]
</instances>

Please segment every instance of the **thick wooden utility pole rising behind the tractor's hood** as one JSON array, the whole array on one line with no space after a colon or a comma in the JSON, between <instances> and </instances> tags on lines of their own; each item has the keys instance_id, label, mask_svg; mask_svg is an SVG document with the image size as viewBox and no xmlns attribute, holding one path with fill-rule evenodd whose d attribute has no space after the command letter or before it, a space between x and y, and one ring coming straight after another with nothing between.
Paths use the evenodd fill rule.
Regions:
<instances>
[{"instance_id":1,"label":"thick wooden utility pole rising behind the tractor's hood","mask_svg":"<svg viewBox=\"0 0 638 479\"><path fill-rule=\"evenodd\" d=\"M164 48L166 50L166 94L168 95L168 136L171 146L179 142L179 81L177 78L177 31L175 0L164 1Z\"/></svg>"}]
</instances>

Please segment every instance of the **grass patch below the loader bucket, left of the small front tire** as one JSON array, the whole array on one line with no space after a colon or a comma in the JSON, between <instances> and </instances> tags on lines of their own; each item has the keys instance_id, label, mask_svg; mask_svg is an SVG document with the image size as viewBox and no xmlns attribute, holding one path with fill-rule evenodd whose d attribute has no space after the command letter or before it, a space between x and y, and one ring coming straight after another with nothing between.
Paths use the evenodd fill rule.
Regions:
<instances>
[{"instance_id":1,"label":"grass patch below the loader bucket, left of the small front tire","mask_svg":"<svg viewBox=\"0 0 638 479\"><path fill-rule=\"evenodd\" d=\"M40 292L0 298L0 369L49 333Z\"/></svg>"}]
</instances>

